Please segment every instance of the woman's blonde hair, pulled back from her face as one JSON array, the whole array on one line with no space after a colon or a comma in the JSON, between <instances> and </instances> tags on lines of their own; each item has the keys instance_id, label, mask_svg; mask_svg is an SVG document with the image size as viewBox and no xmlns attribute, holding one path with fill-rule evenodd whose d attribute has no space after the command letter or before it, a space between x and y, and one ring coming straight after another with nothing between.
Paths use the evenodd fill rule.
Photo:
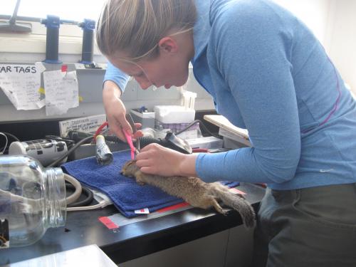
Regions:
<instances>
[{"instance_id":1,"label":"woman's blonde hair, pulled back from her face","mask_svg":"<svg viewBox=\"0 0 356 267\"><path fill-rule=\"evenodd\" d=\"M96 41L105 56L118 51L122 58L137 61L155 58L158 42L172 35L190 31L197 19L194 0L108 0L103 6L96 30Z\"/></svg>"}]
</instances>

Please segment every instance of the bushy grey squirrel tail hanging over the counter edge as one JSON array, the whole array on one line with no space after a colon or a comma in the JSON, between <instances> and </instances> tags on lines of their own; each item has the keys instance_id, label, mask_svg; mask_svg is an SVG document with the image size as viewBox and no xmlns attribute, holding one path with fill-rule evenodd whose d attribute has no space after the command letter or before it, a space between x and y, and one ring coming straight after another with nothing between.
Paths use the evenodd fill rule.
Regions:
<instances>
[{"instance_id":1,"label":"bushy grey squirrel tail hanging over the counter edge","mask_svg":"<svg viewBox=\"0 0 356 267\"><path fill-rule=\"evenodd\" d=\"M238 211L246 228L254 227L256 225L256 214L251 204L239 194L231 193L227 187L220 183L217 185L217 187L212 187L214 197L221 199L226 206Z\"/></svg>"}]
</instances>

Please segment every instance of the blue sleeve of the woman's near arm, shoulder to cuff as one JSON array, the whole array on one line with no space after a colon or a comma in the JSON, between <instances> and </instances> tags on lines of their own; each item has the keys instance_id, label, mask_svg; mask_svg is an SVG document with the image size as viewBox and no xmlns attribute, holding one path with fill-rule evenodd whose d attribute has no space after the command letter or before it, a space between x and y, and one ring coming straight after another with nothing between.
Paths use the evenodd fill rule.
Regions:
<instances>
[{"instance_id":1,"label":"blue sleeve of the woman's near arm, shoulder to cuff","mask_svg":"<svg viewBox=\"0 0 356 267\"><path fill-rule=\"evenodd\" d=\"M261 6L226 6L213 24L210 44L216 68L239 106L253 146L199 154L196 169L204 181L293 179L300 159L300 127L290 63L292 35L280 16Z\"/></svg>"}]
</instances>

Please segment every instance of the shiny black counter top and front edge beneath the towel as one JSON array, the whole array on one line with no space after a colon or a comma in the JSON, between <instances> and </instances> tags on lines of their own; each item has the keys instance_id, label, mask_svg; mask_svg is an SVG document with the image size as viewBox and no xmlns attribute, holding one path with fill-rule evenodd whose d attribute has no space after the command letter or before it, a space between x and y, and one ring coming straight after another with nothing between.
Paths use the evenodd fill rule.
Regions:
<instances>
[{"instance_id":1,"label":"shiny black counter top and front edge beneath the towel","mask_svg":"<svg viewBox=\"0 0 356 267\"><path fill-rule=\"evenodd\" d=\"M241 184L236 188L247 193L246 199L255 209L265 192L265 189L253 184ZM89 244L97 244L112 261L122 263L242 224L236 211L229 211L224 216L213 210L196 208L127 224L114 230L98 220L100 216L117 213L112 205L95 211L70 211L65 227L48 229L36 244L0 249L0 265Z\"/></svg>"}]
</instances>

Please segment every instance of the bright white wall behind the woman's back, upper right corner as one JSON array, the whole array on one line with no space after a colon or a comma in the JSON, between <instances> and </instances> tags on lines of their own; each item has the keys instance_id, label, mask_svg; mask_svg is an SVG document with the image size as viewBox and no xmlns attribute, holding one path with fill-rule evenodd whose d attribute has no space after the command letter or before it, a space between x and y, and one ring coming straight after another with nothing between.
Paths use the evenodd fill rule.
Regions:
<instances>
[{"instance_id":1,"label":"bright white wall behind the woman's back, upper right corner","mask_svg":"<svg viewBox=\"0 0 356 267\"><path fill-rule=\"evenodd\" d=\"M274 0L318 37L345 83L356 93L356 1Z\"/></svg>"}]
</instances>

